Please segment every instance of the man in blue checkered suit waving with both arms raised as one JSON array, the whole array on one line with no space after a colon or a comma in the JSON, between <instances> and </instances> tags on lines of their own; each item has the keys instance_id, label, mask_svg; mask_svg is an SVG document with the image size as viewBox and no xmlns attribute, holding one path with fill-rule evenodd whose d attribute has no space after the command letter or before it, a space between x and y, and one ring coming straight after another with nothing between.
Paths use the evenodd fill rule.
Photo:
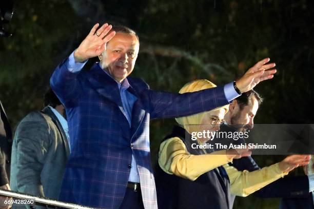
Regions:
<instances>
[{"instance_id":1,"label":"man in blue checkered suit waving with both arms raised","mask_svg":"<svg viewBox=\"0 0 314 209\"><path fill-rule=\"evenodd\" d=\"M236 82L187 94L152 91L128 77L139 37L127 27L96 24L54 71L50 85L66 107L71 155L60 199L102 208L157 208L149 120L226 105L276 73L263 59ZM88 58L100 62L82 71Z\"/></svg>"}]
</instances>

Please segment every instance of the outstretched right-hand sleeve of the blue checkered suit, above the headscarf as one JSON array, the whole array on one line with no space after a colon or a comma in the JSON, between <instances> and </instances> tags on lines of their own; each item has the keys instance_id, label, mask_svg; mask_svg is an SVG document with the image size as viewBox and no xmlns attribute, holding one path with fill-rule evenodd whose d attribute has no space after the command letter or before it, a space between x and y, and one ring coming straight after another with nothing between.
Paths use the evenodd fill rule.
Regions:
<instances>
[{"instance_id":1,"label":"outstretched right-hand sleeve of the blue checkered suit, above the headscarf","mask_svg":"<svg viewBox=\"0 0 314 209\"><path fill-rule=\"evenodd\" d=\"M147 94L151 119L193 115L229 104L223 87L184 94L148 90Z\"/></svg>"}]
</instances>

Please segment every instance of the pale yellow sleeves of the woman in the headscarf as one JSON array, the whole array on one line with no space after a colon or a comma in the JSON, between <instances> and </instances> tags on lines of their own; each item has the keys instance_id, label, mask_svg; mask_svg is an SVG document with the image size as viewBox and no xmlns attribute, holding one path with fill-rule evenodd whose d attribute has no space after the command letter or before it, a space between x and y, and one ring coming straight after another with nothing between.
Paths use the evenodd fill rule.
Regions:
<instances>
[{"instance_id":1,"label":"pale yellow sleeves of the woman in the headscarf","mask_svg":"<svg viewBox=\"0 0 314 209\"><path fill-rule=\"evenodd\" d=\"M241 172L228 165L228 162L230 160L225 150L191 155L178 137L167 139L160 145L158 163L164 172L194 181L202 174L223 165L230 179L231 194L237 196L246 197L288 174L279 169L278 163L258 171Z\"/></svg>"}]
</instances>

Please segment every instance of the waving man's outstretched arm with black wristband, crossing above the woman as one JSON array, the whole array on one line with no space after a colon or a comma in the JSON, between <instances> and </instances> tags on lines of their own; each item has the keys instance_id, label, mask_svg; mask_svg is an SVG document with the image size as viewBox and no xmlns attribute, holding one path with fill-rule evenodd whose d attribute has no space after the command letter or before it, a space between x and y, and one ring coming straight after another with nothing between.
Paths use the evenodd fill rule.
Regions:
<instances>
[{"instance_id":1,"label":"waving man's outstretched arm with black wristband, crossing above the woman","mask_svg":"<svg viewBox=\"0 0 314 209\"><path fill-rule=\"evenodd\" d=\"M259 61L250 68L239 80L236 86L240 92L247 92L263 80L271 79L276 69L275 64L267 64L269 58ZM148 90L145 92L150 103L151 118L182 117L209 111L227 105L237 98L238 94L233 82L224 87L211 88L184 94L171 94Z\"/></svg>"}]
</instances>

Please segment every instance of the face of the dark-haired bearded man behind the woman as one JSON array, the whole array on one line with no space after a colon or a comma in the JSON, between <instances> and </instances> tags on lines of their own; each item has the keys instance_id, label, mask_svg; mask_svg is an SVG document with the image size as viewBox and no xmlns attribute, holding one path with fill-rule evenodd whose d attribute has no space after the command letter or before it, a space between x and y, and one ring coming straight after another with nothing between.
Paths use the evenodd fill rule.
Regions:
<instances>
[{"instance_id":1,"label":"face of the dark-haired bearded man behind the woman","mask_svg":"<svg viewBox=\"0 0 314 209\"><path fill-rule=\"evenodd\" d=\"M249 103L240 109L238 102L235 103L234 109L232 109L231 114L231 124L240 125L240 131L245 132L248 129L253 128L254 117L259 109L258 100L255 97L249 98Z\"/></svg>"}]
</instances>

